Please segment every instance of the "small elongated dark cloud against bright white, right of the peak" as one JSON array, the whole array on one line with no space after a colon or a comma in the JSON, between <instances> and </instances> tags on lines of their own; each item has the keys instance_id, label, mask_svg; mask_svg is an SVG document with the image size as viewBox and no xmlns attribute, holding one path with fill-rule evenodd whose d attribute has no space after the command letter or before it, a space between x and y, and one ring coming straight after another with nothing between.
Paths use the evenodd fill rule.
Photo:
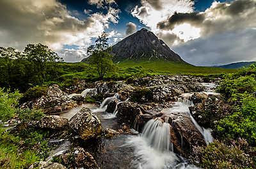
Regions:
<instances>
[{"instance_id":1,"label":"small elongated dark cloud against bright white, right of the peak","mask_svg":"<svg viewBox=\"0 0 256 169\"><path fill-rule=\"evenodd\" d=\"M199 25L204 21L204 14L200 13L174 13L168 20L159 22L157 27L159 29L173 29L175 25L183 24L184 22L191 25Z\"/></svg>"}]
</instances>

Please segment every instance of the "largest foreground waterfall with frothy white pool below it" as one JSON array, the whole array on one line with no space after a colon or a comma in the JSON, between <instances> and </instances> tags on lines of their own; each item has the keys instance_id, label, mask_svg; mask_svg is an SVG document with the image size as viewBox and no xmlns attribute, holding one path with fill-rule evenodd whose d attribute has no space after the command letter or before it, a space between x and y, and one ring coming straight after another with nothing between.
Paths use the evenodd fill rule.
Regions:
<instances>
[{"instance_id":1,"label":"largest foreground waterfall with frothy white pool below it","mask_svg":"<svg viewBox=\"0 0 256 169\"><path fill-rule=\"evenodd\" d=\"M170 124L159 119L147 122L140 136L129 136L126 146L134 149L134 168L138 169L173 169L195 166L180 163L177 155L170 151Z\"/></svg>"}]
</instances>

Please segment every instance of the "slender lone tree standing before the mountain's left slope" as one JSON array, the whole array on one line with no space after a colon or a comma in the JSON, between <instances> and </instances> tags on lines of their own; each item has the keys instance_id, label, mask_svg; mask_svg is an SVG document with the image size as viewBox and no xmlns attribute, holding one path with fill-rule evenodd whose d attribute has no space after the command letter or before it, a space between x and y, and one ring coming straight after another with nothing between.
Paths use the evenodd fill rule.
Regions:
<instances>
[{"instance_id":1,"label":"slender lone tree standing before the mountain's left slope","mask_svg":"<svg viewBox=\"0 0 256 169\"><path fill-rule=\"evenodd\" d=\"M89 62L97 68L99 79L103 80L108 71L115 68L112 61L112 55L109 54L111 48L108 45L108 34L102 33L95 41L95 45L87 48L87 54L90 56Z\"/></svg>"}]
</instances>

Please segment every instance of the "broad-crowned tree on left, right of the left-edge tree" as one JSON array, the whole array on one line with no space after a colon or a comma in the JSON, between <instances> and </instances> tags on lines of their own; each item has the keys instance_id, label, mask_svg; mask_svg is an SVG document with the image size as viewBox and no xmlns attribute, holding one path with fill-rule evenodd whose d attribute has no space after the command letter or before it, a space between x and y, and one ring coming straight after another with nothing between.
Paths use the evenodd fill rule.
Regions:
<instances>
[{"instance_id":1,"label":"broad-crowned tree on left, right of the left-edge tree","mask_svg":"<svg viewBox=\"0 0 256 169\"><path fill-rule=\"evenodd\" d=\"M36 45L29 44L24 50L24 55L28 61L33 62L35 71L40 78L40 83L43 84L47 75L47 67L56 68L55 63L62 61L62 58L53 52L46 45L38 43Z\"/></svg>"}]
</instances>

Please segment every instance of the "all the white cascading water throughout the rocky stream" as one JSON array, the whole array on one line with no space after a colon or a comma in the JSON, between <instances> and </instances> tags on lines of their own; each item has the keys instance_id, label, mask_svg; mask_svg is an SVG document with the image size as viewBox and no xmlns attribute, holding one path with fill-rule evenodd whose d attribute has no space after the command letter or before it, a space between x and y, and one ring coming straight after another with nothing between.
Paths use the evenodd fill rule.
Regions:
<instances>
[{"instance_id":1,"label":"all the white cascading water throughout the rocky stream","mask_svg":"<svg viewBox=\"0 0 256 169\"><path fill-rule=\"evenodd\" d=\"M205 86L206 85L208 84L205 84ZM209 87L214 88L214 86L210 85ZM90 90L92 89L87 89L80 95L84 97ZM211 90L207 92L213 93L213 91ZM193 105L193 103L186 98L190 96L191 94L182 94L181 98L179 98L179 100L175 102L173 107L169 108L164 115L168 117L168 114L172 114L174 112L188 115L191 118L193 124L195 124L195 127L198 129L198 131L200 131L200 133L204 136L205 142L210 143L213 140L211 136L211 129L204 129L199 126L189 112L189 106ZM113 121L115 120L114 118L118 114L118 105L122 103L122 101L116 104L113 114L109 114L108 112L106 112L106 108L108 104L115 99L119 99L117 93L113 97L104 99L99 108L91 108L92 112L102 114L101 116L104 119L107 119L111 124L113 124ZM72 117L72 115L74 115L76 111L79 111L79 108L70 111L71 113L69 116ZM120 137L120 139L120 142L124 142L124 145L122 147L125 147L125 149L127 149L127 147L131 147L133 150L132 154L129 156L133 156L132 168L197 169L196 166L189 165L186 160L182 159L180 156L173 152L173 146L170 142L170 140L172 139L170 138L170 124L168 124L168 122L163 122L159 119L152 119L148 121L147 124L145 124L143 132L140 135L128 135L126 137ZM118 149L118 147L114 148ZM111 157L113 156L115 155L111 154ZM120 156L120 154L116 156ZM112 166L115 167L115 165Z\"/></svg>"}]
</instances>

